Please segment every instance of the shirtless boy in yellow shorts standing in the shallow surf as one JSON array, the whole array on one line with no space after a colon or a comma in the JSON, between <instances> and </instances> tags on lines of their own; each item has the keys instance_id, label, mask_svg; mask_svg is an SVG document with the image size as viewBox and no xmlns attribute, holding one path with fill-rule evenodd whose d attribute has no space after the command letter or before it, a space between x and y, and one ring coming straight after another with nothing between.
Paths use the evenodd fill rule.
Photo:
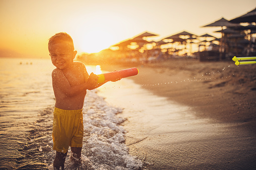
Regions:
<instances>
[{"instance_id":1,"label":"shirtless boy in yellow shorts standing in the shallow surf","mask_svg":"<svg viewBox=\"0 0 256 170\"><path fill-rule=\"evenodd\" d=\"M86 67L73 62L76 51L72 38L66 33L58 33L49 39L49 55L56 69L52 71L52 86L56 99L53 119L53 149L56 156L54 169L64 169L68 147L71 147L70 159L80 162L83 118L82 107L87 89L95 89L98 76L87 73Z\"/></svg>"}]
</instances>

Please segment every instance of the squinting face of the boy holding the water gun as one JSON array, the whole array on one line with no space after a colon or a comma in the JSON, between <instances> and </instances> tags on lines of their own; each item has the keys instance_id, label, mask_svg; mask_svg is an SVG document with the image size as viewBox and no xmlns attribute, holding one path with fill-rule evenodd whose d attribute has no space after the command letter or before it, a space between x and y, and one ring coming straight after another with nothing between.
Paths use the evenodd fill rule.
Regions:
<instances>
[{"instance_id":1,"label":"squinting face of the boy holding the water gun","mask_svg":"<svg viewBox=\"0 0 256 170\"><path fill-rule=\"evenodd\" d=\"M73 64L76 51L73 51L72 45L69 42L52 43L49 45L48 50L52 64L57 68L64 70Z\"/></svg>"}]
</instances>

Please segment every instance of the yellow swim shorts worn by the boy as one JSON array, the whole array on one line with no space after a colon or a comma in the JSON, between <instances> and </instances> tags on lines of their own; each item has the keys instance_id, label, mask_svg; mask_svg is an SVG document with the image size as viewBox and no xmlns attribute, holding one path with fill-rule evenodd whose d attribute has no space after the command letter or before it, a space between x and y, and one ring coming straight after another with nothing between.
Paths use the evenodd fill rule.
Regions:
<instances>
[{"instance_id":1,"label":"yellow swim shorts worn by the boy","mask_svg":"<svg viewBox=\"0 0 256 170\"><path fill-rule=\"evenodd\" d=\"M69 146L82 147L82 109L62 110L55 107L53 116L53 149L66 153Z\"/></svg>"}]
</instances>

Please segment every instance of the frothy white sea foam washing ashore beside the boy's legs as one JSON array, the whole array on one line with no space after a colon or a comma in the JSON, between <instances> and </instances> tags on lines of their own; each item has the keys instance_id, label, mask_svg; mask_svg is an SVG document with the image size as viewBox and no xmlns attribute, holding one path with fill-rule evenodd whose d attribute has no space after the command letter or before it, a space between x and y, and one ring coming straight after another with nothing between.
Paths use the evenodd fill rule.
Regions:
<instances>
[{"instance_id":1,"label":"frothy white sea foam washing ashore beside the boy's legs","mask_svg":"<svg viewBox=\"0 0 256 170\"><path fill-rule=\"evenodd\" d=\"M122 111L97 95L97 90L88 91L83 106L81 163L78 167L71 163L69 149L65 169L141 169L142 161L130 155L124 143L126 131L120 124L125 119L117 115ZM52 145L51 142L49 144ZM50 163L49 169L52 168Z\"/></svg>"}]
</instances>

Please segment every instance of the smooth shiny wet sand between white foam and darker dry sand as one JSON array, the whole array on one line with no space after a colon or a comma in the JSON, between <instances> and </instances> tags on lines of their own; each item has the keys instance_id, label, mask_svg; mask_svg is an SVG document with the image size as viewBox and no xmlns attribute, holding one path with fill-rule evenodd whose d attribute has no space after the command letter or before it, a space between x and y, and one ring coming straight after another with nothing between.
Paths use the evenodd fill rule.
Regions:
<instances>
[{"instance_id":1,"label":"smooth shiny wet sand between white foam and darker dry sand","mask_svg":"<svg viewBox=\"0 0 256 170\"><path fill-rule=\"evenodd\" d=\"M107 83L100 95L124 108L126 144L149 169L252 169L256 137L236 124L214 124L192 108L152 95L132 80Z\"/></svg>"}]
</instances>

